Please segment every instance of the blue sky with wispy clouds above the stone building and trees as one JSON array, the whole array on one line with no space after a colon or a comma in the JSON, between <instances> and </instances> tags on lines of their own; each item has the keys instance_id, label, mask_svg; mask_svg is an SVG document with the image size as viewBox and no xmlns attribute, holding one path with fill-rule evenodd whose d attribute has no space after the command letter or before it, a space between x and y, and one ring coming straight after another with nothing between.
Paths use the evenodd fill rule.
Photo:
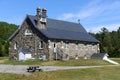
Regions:
<instances>
[{"instance_id":1,"label":"blue sky with wispy clouds above the stone building and trees","mask_svg":"<svg viewBox=\"0 0 120 80\"><path fill-rule=\"evenodd\" d=\"M46 8L49 18L78 22L88 32L120 26L120 0L0 0L0 21L21 25L26 14Z\"/></svg>"}]
</instances>

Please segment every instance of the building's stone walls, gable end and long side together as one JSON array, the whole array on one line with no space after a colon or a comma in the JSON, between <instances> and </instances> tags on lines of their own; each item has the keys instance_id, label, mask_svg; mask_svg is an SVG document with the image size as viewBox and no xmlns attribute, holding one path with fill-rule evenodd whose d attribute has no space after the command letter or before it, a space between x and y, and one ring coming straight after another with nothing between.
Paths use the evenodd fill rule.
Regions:
<instances>
[{"instance_id":1,"label":"building's stone walls, gable end and long side together","mask_svg":"<svg viewBox=\"0 0 120 80\"><path fill-rule=\"evenodd\" d=\"M25 33L27 29L30 31L29 35ZM43 41L43 49L39 48L40 41ZM14 48L15 44L16 49ZM45 54L47 59L55 59L54 55L59 50L62 53L62 59L75 59L90 58L93 53L99 52L99 45L97 43L71 40L48 40L33 27L29 19L25 19L19 32L10 41L10 58L18 58L21 49L29 49L33 58L39 58L41 54Z\"/></svg>"}]
</instances>

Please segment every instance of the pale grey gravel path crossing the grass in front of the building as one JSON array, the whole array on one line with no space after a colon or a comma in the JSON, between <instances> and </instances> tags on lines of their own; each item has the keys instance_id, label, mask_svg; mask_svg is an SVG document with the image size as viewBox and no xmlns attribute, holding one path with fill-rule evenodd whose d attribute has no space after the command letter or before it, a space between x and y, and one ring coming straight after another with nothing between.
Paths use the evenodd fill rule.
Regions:
<instances>
[{"instance_id":1,"label":"pale grey gravel path crossing the grass in front of the building","mask_svg":"<svg viewBox=\"0 0 120 80\"><path fill-rule=\"evenodd\" d=\"M26 70L28 67L29 67L28 65L0 64L0 73L30 74ZM55 70L66 70L66 69L99 68L104 66L39 66L39 67L43 71L55 71Z\"/></svg>"}]
</instances>

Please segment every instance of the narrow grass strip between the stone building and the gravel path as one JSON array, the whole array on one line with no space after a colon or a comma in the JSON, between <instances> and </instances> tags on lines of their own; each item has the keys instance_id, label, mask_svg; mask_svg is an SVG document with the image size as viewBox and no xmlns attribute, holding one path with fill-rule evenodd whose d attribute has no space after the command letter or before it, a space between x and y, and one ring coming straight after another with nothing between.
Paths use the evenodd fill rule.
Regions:
<instances>
[{"instance_id":1,"label":"narrow grass strip between the stone building and the gravel path","mask_svg":"<svg viewBox=\"0 0 120 80\"><path fill-rule=\"evenodd\" d=\"M28 61L15 61L8 60L6 58L0 59L0 64L12 64L12 65L42 65L42 66L96 66L96 65L110 65L110 63L97 59L78 59L78 60L53 60L53 61L40 61L40 60L28 60Z\"/></svg>"}]
</instances>

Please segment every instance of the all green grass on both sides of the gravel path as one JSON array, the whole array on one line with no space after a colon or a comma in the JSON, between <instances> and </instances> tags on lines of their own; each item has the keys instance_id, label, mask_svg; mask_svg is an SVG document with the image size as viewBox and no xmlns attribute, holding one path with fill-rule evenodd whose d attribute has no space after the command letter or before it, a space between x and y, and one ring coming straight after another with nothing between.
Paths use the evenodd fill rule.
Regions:
<instances>
[{"instance_id":1,"label":"all green grass on both sides of the gravel path","mask_svg":"<svg viewBox=\"0 0 120 80\"><path fill-rule=\"evenodd\" d=\"M120 58L111 58L120 63ZM29 60L19 62L1 58L1 64L13 65L46 65L46 66L94 66L110 65L103 60L78 59L68 61L40 61ZM35 72L30 75L0 73L0 80L120 80L120 66L106 66L102 68L60 70L50 72Z\"/></svg>"}]
</instances>

